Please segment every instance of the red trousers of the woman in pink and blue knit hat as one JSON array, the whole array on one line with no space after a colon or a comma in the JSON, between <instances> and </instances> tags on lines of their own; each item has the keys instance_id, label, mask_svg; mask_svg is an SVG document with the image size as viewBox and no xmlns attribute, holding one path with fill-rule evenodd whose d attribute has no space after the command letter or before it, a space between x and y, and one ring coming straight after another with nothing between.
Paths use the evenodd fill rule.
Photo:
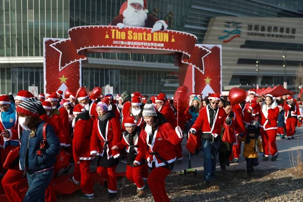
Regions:
<instances>
[{"instance_id":1,"label":"red trousers of the woman in pink and blue knit hat","mask_svg":"<svg viewBox=\"0 0 303 202\"><path fill-rule=\"evenodd\" d=\"M97 173L103 177L108 183L108 190L110 193L117 193L117 175L116 175L117 166L113 167L97 167Z\"/></svg>"}]
</instances>

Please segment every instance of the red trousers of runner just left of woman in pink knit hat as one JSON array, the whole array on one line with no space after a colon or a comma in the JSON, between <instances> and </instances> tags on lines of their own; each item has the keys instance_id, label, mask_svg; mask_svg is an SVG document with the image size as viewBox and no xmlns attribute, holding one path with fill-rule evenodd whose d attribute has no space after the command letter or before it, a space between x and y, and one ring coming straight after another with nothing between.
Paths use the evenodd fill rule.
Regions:
<instances>
[{"instance_id":1,"label":"red trousers of runner just left of woman in pink knit hat","mask_svg":"<svg viewBox=\"0 0 303 202\"><path fill-rule=\"evenodd\" d=\"M81 190L85 194L93 194L93 184L89 177L89 163L90 160L80 160L80 164L75 162L74 179L80 182Z\"/></svg>"}]
</instances>

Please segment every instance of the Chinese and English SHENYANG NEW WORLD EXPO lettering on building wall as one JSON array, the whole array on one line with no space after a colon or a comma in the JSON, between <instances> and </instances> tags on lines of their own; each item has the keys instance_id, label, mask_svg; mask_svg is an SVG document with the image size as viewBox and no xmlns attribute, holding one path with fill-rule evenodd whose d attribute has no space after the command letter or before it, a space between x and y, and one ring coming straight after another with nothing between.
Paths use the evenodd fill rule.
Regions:
<instances>
[{"instance_id":1,"label":"Chinese and English SHENYANG NEW WORLD EXPO lettering on building wall","mask_svg":"<svg viewBox=\"0 0 303 202\"><path fill-rule=\"evenodd\" d=\"M295 28L265 26L265 25L247 25L247 36L263 36L275 38L295 39Z\"/></svg>"}]
</instances>

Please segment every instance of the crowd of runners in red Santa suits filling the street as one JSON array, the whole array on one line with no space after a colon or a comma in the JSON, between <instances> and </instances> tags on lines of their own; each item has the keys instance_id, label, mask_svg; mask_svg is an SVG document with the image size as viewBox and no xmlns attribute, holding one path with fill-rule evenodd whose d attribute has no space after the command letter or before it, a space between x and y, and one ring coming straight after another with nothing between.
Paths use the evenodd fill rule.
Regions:
<instances>
[{"instance_id":1,"label":"crowd of runners in red Santa suits filling the street","mask_svg":"<svg viewBox=\"0 0 303 202\"><path fill-rule=\"evenodd\" d=\"M96 159L97 173L104 179L100 183L108 189L109 199L114 199L116 168L119 159L125 156L126 177L136 186L135 197L145 196L147 182L155 201L170 201L165 178L175 161L182 162L183 134L188 134L186 148L192 155L198 155L200 150L204 152L207 185L217 179L217 156L223 172L233 159L239 162L241 142L244 142L247 175L251 175L254 166L259 164L257 149L263 161L268 161L270 155L271 161L276 161L279 154L276 136L285 138L286 128L287 139L293 139L295 127L301 125L301 111L300 100L290 95L259 97L255 89L247 94L246 100L231 106L226 96L213 93L202 99L201 95L192 93L185 113L178 113L173 97L168 99L164 93L147 97L139 92L124 91L114 98L112 94L100 93L89 96L82 88L64 98L60 90L37 98L26 90L19 91L15 97L0 95L0 172L6 196L10 201L34 201L32 195L38 194L45 201L56 201L49 184L54 176L67 173L72 166L70 162L74 162L74 175L70 180L81 187L83 198L92 199L89 165ZM51 127L43 127L40 122ZM29 140L36 133L41 133L42 142L32 143L39 146L31 148ZM11 159L10 151L18 147L24 166L13 167L15 160ZM36 155L45 160L41 161ZM46 159L54 162L47 161L46 165ZM40 173L46 186L36 193L33 182ZM23 197L19 186L26 176L30 188Z\"/></svg>"}]
</instances>

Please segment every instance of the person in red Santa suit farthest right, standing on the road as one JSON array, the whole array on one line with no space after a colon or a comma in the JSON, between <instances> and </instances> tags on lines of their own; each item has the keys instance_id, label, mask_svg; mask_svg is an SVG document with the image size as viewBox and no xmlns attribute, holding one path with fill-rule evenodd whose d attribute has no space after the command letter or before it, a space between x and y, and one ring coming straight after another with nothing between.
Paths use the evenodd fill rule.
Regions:
<instances>
[{"instance_id":1,"label":"person in red Santa suit farthest right, standing on the road","mask_svg":"<svg viewBox=\"0 0 303 202\"><path fill-rule=\"evenodd\" d=\"M286 120L286 134L287 139L293 139L297 118L300 118L301 113L298 104L295 102L292 96L287 97L287 101L284 104Z\"/></svg>"}]
</instances>

